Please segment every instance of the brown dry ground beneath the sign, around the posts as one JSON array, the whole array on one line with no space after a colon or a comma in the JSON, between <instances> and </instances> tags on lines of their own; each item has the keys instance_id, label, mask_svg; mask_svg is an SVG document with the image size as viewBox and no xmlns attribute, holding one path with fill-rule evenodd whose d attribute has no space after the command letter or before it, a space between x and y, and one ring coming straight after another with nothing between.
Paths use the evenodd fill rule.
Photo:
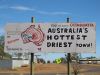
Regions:
<instances>
[{"instance_id":1,"label":"brown dry ground beneath the sign, around the posts","mask_svg":"<svg viewBox=\"0 0 100 75\"><path fill-rule=\"evenodd\" d=\"M35 73L67 73L66 64L34 64L33 72ZM71 66L71 72L73 72ZM91 71L91 69L100 70L100 64L82 64L80 65L79 75L100 75L100 71ZM24 65L16 69L0 69L0 73L29 73L30 67Z\"/></svg>"}]
</instances>

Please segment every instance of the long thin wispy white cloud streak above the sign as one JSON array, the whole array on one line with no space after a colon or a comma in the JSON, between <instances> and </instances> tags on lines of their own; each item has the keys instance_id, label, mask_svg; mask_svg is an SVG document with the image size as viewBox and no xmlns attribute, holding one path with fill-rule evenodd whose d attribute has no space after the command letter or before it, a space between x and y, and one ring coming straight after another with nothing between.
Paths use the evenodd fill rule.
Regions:
<instances>
[{"instance_id":1,"label":"long thin wispy white cloud streak above the sign","mask_svg":"<svg viewBox=\"0 0 100 75\"><path fill-rule=\"evenodd\" d=\"M37 10L34 8L26 7L26 6L0 6L0 9L13 9L13 10L20 10L20 11L34 11L36 13L42 14L42 15L68 15L71 14L69 12L64 12L64 11L42 11L42 10Z\"/></svg>"}]
</instances>

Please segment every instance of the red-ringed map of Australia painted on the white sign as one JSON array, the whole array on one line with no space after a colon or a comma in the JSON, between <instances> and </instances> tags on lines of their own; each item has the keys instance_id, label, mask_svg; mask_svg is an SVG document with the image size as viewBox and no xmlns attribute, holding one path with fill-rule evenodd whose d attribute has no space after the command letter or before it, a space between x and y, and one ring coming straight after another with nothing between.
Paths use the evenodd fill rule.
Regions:
<instances>
[{"instance_id":1,"label":"red-ringed map of Australia painted on the white sign","mask_svg":"<svg viewBox=\"0 0 100 75\"><path fill-rule=\"evenodd\" d=\"M41 46L44 41L44 33L42 32L40 25L35 28L35 25L31 25L24 32L21 33L23 43L33 42L36 46Z\"/></svg>"}]
</instances>

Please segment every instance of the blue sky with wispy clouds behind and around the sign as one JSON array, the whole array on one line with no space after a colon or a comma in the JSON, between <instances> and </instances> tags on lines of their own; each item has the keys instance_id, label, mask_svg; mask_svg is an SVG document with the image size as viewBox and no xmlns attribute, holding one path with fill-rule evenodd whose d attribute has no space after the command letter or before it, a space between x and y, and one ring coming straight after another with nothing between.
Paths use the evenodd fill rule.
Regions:
<instances>
[{"instance_id":1,"label":"blue sky with wispy clouds behind and around the sign","mask_svg":"<svg viewBox=\"0 0 100 75\"><path fill-rule=\"evenodd\" d=\"M0 34L9 22L96 22L96 54L83 56L100 57L100 0L0 0ZM64 56L56 54L56 56ZM51 56L51 55L49 55ZM52 54L55 57L55 54ZM52 58L50 57L50 58Z\"/></svg>"}]
</instances>

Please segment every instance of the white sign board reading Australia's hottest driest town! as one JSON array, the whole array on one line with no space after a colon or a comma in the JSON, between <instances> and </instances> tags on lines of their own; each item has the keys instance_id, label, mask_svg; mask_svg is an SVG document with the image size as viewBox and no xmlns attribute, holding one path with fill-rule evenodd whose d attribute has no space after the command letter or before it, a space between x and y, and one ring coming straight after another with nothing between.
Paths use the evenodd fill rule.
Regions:
<instances>
[{"instance_id":1,"label":"white sign board reading Australia's hottest driest town!","mask_svg":"<svg viewBox=\"0 0 100 75\"><path fill-rule=\"evenodd\" d=\"M9 23L6 52L96 52L95 23Z\"/></svg>"}]
</instances>

